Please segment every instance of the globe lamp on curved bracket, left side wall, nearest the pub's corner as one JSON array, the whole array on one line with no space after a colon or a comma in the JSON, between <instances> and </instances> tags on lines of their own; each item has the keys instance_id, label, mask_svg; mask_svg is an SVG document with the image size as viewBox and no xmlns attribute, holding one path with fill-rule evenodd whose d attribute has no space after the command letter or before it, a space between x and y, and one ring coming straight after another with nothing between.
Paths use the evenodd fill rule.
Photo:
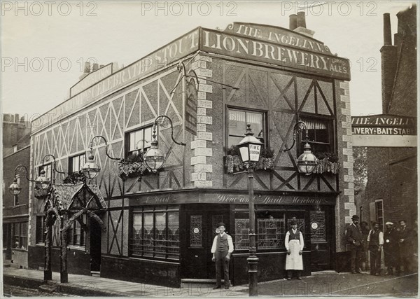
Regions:
<instances>
[{"instance_id":1,"label":"globe lamp on curved bracket, left side wall, nearest the pub's corner","mask_svg":"<svg viewBox=\"0 0 420 299\"><path fill-rule=\"evenodd\" d=\"M158 139L156 139L156 127L158 126L159 118L167 118L167 120L169 120L169 124L171 125L172 141L180 146L186 146L186 144L183 142L177 142L174 139L174 125L172 124L172 120L169 118L169 116L161 115L155 118L155 122L153 123L153 141L151 142L151 148L149 148L146 152L146 155L144 155L144 162L146 162L146 166L148 169L151 169L152 172L157 172L158 169L162 168L163 164L165 163L165 155L163 154L162 150L160 150Z\"/></svg>"}]
</instances>

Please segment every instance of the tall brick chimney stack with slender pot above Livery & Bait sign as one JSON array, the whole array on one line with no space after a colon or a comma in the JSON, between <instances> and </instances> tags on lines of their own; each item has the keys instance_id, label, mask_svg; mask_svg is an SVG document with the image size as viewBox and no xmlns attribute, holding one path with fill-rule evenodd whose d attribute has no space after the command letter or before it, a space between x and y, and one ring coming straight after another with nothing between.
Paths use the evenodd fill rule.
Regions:
<instances>
[{"instance_id":1,"label":"tall brick chimney stack with slender pot above Livery & Bait sign","mask_svg":"<svg viewBox=\"0 0 420 299\"><path fill-rule=\"evenodd\" d=\"M391 19L389 13L384 13L384 46L381 50L382 79L382 113L388 113L389 102L393 90L395 73L397 71L398 47L392 45Z\"/></svg>"}]
</instances>

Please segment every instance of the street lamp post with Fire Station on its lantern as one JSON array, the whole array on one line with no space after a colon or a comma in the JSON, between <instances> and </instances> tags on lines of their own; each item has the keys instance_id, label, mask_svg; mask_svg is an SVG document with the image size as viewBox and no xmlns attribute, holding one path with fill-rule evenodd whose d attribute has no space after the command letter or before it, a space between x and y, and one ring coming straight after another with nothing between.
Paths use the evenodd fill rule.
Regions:
<instances>
[{"instance_id":1,"label":"street lamp post with Fire Station on its lantern","mask_svg":"<svg viewBox=\"0 0 420 299\"><path fill-rule=\"evenodd\" d=\"M255 162L260 160L262 142L253 137L251 125L247 125L244 139L239 144L242 162L245 163L248 172L248 197L249 197L249 295L258 296L258 257L255 246L255 204L253 196L253 169Z\"/></svg>"}]
</instances>

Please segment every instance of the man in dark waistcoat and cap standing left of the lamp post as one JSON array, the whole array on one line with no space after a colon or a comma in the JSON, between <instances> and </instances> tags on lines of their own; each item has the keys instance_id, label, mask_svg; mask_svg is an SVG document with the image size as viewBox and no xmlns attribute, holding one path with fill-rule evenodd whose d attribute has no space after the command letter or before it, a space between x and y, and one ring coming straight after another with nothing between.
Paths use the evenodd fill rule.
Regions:
<instances>
[{"instance_id":1,"label":"man in dark waistcoat and cap standing left of the lamp post","mask_svg":"<svg viewBox=\"0 0 420 299\"><path fill-rule=\"evenodd\" d=\"M229 288L229 262L232 254L233 242L232 237L225 233L226 225L221 222L218 223L218 234L214 237L213 246L211 246L211 253L213 253L213 260L216 262L216 286L213 289L222 287L222 272L224 274L225 288Z\"/></svg>"}]
</instances>

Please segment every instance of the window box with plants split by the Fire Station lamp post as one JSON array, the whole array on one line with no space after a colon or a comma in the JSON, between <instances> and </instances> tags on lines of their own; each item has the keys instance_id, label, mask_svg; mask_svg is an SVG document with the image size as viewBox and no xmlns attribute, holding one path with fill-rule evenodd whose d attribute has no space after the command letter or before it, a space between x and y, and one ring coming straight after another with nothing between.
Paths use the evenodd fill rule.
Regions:
<instances>
[{"instance_id":1,"label":"window box with plants split by the Fire Station lamp post","mask_svg":"<svg viewBox=\"0 0 420 299\"><path fill-rule=\"evenodd\" d=\"M274 152L270 148L262 148L260 153L260 160L255 164L255 170L258 169L274 169ZM241 160L239 148L237 146L230 146L228 155L225 157L225 168L228 174L241 172L246 169Z\"/></svg>"}]
</instances>

